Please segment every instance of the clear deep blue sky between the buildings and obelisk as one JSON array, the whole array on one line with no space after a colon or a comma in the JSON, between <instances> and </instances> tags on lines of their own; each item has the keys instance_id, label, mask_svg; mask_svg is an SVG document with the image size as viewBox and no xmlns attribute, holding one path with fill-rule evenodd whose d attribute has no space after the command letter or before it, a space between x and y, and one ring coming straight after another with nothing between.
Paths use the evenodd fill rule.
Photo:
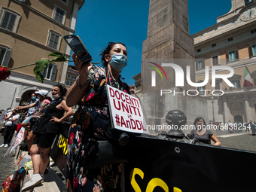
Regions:
<instances>
[{"instance_id":1,"label":"clear deep blue sky between the buildings and obelisk","mask_svg":"<svg viewBox=\"0 0 256 192\"><path fill-rule=\"evenodd\" d=\"M230 11L231 0L187 0L190 35L216 23ZM123 42L128 51L128 66L121 73L127 84L141 72L142 42L147 38L150 0L85 0L75 27L75 35L100 62L99 53L108 42ZM99 64L101 65L101 64Z\"/></svg>"}]
</instances>

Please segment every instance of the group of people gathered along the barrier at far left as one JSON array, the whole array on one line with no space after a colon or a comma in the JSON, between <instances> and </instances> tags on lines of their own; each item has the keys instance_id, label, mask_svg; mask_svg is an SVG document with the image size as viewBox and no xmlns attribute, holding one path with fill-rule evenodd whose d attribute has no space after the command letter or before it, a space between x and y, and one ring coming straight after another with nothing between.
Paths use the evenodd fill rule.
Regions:
<instances>
[{"instance_id":1,"label":"group of people gathered along the barrier at far left","mask_svg":"<svg viewBox=\"0 0 256 192\"><path fill-rule=\"evenodd\" d=\"M27 110L26 117L20 123L25 128L23 141L27 142L29 154L32 157L33 175L28 182L23 184L21 191L26 191L41 183L44 179L44 172L49 163L50 147L56 135L62 129L63 121L68 120L74 114L72 108L66 105L66 87L61 84L53 86L51 99L47 96L47 90L39 90L31 94L31 102L26 106L18 106L11 112L5 114L5 132L2 148L8 148L11 139L17 130L17 123L20 118L20 111Z\"/></svg>"}]
</instances>

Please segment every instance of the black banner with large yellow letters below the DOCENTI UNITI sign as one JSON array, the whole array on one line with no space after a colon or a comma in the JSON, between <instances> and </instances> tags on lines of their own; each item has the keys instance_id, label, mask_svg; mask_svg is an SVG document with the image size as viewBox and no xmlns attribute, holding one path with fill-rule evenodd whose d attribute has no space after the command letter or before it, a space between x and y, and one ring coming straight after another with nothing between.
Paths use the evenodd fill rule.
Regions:
<instances>
[{"instance_id":1,"label":"black banner with large yellow letters below the DOCENTI UNITI sign","mask_svg":"<svg viewBox=\"0 0 256 192\"><path fill-rule=\"evenodd\" d=\"M256 191L253 152L139 137L133 144L126 191Z\"/></svg>"}]
</instances>

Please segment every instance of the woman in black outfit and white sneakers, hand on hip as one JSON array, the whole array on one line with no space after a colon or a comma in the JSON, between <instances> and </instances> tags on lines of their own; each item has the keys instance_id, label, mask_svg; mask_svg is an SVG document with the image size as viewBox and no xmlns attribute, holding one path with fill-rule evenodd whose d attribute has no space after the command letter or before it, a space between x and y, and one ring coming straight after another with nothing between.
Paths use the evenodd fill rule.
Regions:
<instances>
[{"instance_id":1,"label":"woman in black outfit and white sneakers, hand on hip","mask_svg":"<svg viewBox=\"0 0 256 192\"><path fill-rule=\"evenodd\" d=\"M30 148L32 157L33 171L32 178L23 185L21 191L26 191L41 183L44 171L49 163L50 147L56 135L59 133L61 123L69 119L74 114L72 108L66 105L66 88L60 84L53 86L52 96L54 100L47 105L44 110L44 115L41 116L38 125L33 129L33 134L36 135L35 142Z\"/></svg>"}]
</instances>

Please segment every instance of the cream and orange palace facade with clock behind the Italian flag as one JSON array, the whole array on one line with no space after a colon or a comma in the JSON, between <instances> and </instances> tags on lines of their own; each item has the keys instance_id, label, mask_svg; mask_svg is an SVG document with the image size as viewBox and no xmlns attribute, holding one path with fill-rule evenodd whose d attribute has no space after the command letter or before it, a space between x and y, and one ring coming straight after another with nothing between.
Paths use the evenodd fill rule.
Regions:
<instances>
[{"instance_id":1,"label":"cream and orange palace facade with clock behind the Italian flag","mask_svg":"<svg viewBox=\"0 0 256 192\"><path fill-rule=\"evenodd\" d=\"M217 18L217 23L194 35L195 68L197 82L206 78L206 66L209 66L209 78L212 66L229 66L234 75L228 80L234 85L229 87L221 78L206 86L198 87L201 95L208 99L209 120L221 123L245 123L256 120L256 2L233 0L227 14ZM245 69L251 75L252 87L244 87ZM220 69L217 75L228 74ZM205 91L206 90L206 91ZM222 90L222 96L212 96L213 90Z\"/></svg>"}]
</instances>

